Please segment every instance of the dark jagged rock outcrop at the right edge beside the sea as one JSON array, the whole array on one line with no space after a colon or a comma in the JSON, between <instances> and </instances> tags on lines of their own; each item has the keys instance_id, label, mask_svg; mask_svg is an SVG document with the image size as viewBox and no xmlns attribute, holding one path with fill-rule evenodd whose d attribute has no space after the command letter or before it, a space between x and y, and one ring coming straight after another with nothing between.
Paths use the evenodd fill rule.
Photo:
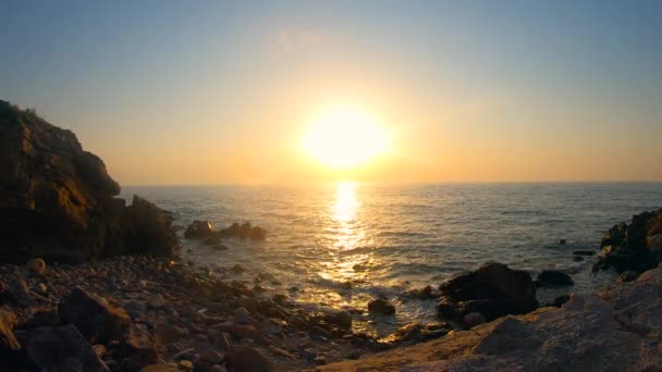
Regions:
<instances>
[{"instance_id":1,"label":"dark jagged rock outcrop at the right edge beside the sea","mask_svg":"<svg viewBox=\"0 0 662 372\"><path fill-rule=\"evenodd\" d=\"M662 209L636 214L629 224L614 225L601 247L593 271L614 268L618 273L641 273L655 268L662 261Z\"/></svg>"}]
</instances>

